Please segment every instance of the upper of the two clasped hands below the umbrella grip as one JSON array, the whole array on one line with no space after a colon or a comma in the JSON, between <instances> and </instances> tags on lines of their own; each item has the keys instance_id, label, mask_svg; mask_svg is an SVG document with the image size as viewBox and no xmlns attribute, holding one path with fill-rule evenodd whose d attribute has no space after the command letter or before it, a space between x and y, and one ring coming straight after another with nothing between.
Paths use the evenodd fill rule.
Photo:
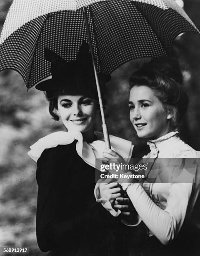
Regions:
<instances>
[{"instance_id":1,"label":"upper of the two clasped hands below the umbrella grip","mask_svg":"<svg viewBox=\"0 0 200 256\"><path fill-rule=\"evenodd\" d=\"M107 181L107 182L109 183L99 184L100 197L109 200L112 207L114 207L116 198L122 196L121 194L122 189L116 181L113 182L113 179L110 179L110 181Z\"/></svg>"}]
</instances>

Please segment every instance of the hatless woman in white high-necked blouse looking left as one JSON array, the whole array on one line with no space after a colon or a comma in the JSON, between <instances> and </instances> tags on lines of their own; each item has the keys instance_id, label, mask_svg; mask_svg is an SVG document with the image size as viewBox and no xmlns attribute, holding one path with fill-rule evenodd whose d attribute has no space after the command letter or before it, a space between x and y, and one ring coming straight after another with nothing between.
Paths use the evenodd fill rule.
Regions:
<instances>
[{"instance_id":1,"label":"hatless woman in white high-necked blouse looking left","mask_svg":"<svg viewBox=\"0 0 200 256\"><path fill-rule=\"evenodd\" d=\"M179 137L178 125L188 106L181 84L178 64L168 58L155 58L130 77L130 121L138 137L148 140L150 153L141 163L151 163L146 178L154 179L153 183L118 180L147 228L139 255L200 253L195 223L199 212L194 210L200 189L198 164L194 163L198 152ZM109 150L103 156L111 160L113 154ZM121 207L115 205L116 210Z\"/></svg>"}]
</instances>

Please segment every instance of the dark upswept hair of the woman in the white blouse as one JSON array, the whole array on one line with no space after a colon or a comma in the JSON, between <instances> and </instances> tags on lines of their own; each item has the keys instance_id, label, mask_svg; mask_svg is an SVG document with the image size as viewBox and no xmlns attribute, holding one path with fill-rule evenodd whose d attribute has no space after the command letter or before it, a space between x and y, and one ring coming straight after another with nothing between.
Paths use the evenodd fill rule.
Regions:
<instances>
[{"instance_id":1,"label":"dark upswept hair of the woman in the white blouse","mask_svg":"<svg viewBox=\"0 0 200 256\"><path fill-rule=\"evenodd\" d=\"M166 110L173 113L171 126L177 129L188 108L188 95L183 90L183 76L178 61L170 57L153 58L134 72L129 80L130 90L134 86L151 88Z\"/></svg>"}]
</instances>

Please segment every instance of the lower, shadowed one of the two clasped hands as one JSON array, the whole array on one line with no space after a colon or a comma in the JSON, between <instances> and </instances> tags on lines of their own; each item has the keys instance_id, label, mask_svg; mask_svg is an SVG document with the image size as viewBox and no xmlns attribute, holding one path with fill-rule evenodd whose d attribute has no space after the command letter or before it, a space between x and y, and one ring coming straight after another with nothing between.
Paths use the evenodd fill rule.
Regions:
<instances>
[{"instance_id":1,"label":"lower, shadowed one of the two clasped hands","mask_svg":"<svg viewBox=\"0 0 200 256\"><path fill-rule=\"evenodd\" d=\"M128 195L125 196L126 197L116 198L114 208L115 210L121 211L122 220L124 220L127 224L132 225L134 223L137 212Z\"/></svg>"}]
</instances>

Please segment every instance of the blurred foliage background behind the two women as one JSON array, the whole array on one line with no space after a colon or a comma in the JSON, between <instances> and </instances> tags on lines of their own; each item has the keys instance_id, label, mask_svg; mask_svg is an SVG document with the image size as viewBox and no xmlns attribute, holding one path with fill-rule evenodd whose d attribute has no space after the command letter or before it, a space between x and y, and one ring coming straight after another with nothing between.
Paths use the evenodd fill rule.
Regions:
<instances>
[{"instance_id":1,"label":"blurred foliage background behind the two women","mask_svg":"<svg viewBox=\"0 0 200 256\"><path fill-rule=\"evenodd\" d=\"M0 0L0 31L11 3L12 0ZM184 9L200 29L200 0L184 0ZM179 37L174 47L190 97L183 137L196 150L200 150L199 46L200 37L188 34ZM143 61L146 60L124 64L113 72L112 81L107 84L109 131L135 144L138 139L128 120L128 77ZM35 235L36 164L27 152L42 136L64 128L51 119L44 95L34 88L27 92L20 75L10 70L0 73L0 120L0 246L29 247L29 255L45 255L38 249ZM100 131L100 120L96 126Z\"/></svg>"}]
</instances>

